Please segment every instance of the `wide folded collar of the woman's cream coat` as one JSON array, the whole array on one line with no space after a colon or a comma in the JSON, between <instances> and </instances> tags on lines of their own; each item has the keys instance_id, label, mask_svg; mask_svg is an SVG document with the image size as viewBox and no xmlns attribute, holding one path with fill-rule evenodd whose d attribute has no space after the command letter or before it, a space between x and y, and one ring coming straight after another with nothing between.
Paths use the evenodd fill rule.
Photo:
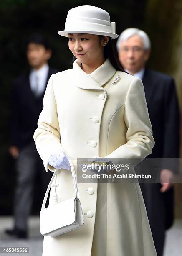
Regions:
<instances>
[{"instance_id":1,"label":"wide folded collar of the woman's cream coat","mask_svg":"<svg viewBox=\"0 0 182 256\"><path fill-rule=\"evenodd\" d=\"M73 63L73 72L74 83L77 87L82 89L104 90L102 85L113 77L116 69L111 65L109 59L106 59L106 61L91 74L86 74L79 66L78 59L76 59Z\"/></svg>"}]
</instances>

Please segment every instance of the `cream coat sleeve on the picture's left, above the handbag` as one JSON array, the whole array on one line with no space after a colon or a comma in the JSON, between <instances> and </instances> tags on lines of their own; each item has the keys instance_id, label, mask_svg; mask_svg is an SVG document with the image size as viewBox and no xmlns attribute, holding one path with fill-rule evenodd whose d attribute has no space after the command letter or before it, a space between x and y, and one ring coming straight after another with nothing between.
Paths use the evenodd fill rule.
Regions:
<instances>
[{"instance_id":1,"label":"cream coat sleeve on the picture's left, above the handbag","mask_svg":"<svg viewBox=\"0 0 182 256\"><path fill-rule=\"evenodd\" d=\"M43 110L38 119L38 128L33 138L38 153L43 160L46 172L55 171L55 168L48 164L48 159L53 152L63 151L60 141L60 129L58 123L57 105L53 91L53 76L49 79L46 92L43 98Z\"/></svg>"}]
</instances>

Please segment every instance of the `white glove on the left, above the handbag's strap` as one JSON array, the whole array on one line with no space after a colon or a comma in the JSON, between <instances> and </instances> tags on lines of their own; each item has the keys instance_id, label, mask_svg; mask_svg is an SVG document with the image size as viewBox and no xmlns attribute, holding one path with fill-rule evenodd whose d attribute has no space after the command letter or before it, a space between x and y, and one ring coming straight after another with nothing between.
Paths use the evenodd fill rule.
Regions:
<instances>
[{"instance_id":1,"label":"white glove on the left, above the handbag's strap","mask_svg":"<svg viewBox=\"0 0 182 256\"><path fill-rule=\"evenodd\" d=\"M69 170L71 168L68 158L63 151L52 154L48 163L56 169Z\"/></svg>"}]
</instances>

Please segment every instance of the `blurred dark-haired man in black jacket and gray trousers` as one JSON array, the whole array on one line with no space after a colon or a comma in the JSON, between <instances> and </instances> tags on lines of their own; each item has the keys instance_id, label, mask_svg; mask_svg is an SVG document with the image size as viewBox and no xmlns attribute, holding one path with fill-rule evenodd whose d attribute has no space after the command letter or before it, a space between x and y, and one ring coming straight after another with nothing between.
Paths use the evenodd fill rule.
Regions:
<instances>
[{"instance_id":1,"label":"blurred dark-haired man in black jacket and gray trousers","mask_svg":"<svg viewBox=\"0 0 182 256\"><path fill-rule=\"evenodd\" d=\"M51 49L42 35L30 36L27 44L27 59L30 71L22 74L13 83L10 119L9 152L16 159L17 181L14 195L14 228L5 230L17 238L28 237L28 216L33 202L33 185L38 173L43 194L46 192L51 172L45 172L42 160L33 141L37 120L43 109L43 96L48 79L55 69L48 66ZM43 195L41 195L43 199Z\"/></svg>"}]
</instances>

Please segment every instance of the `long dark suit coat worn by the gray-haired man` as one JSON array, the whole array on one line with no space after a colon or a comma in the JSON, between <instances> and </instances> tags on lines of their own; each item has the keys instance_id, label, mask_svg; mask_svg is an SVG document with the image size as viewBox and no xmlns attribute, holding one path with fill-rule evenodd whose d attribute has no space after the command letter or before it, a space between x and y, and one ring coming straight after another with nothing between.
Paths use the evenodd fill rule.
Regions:
<instances>
[{"instance_id":1,"label":"long dark suit coat worn by the gray-haired man","mask_svg":"<svg viewBox=\"0 0 182 256\"><path fill-rule=\"evenodd\" d=\"M179 158L180 113L174 79L146 68L142 82L155 140L152 154L147 158ZM177 161L164 162L162 168L177 173ZM164 231L173 223L174 191L172 188L161 193L161 184L140 185L157 253L162 255ZM161 248L157 248L157 243Z\"/></svg>"}]
</instances>

